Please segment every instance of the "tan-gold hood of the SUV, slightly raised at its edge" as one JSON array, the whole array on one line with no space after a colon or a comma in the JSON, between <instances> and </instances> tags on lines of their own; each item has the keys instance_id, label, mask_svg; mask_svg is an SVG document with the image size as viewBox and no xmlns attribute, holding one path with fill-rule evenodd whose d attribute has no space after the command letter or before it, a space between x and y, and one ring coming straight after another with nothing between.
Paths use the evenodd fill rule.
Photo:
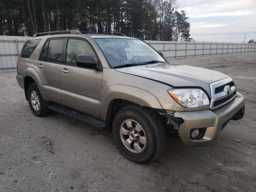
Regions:
<instances>
[{"instance_id":1,"label":"tan-gold hood of the SUV, slightly raised at its edge","mask_svg":"<svg viewBox=\"0 0 256 192\"><path fill-rule=\"evenodd\" d=\"M208 92L209 96L211 95L209 84L228 77L214 70L167 62L115 70L162 82L172 87L201 87Z\"/></svg>"}]
</instances>

